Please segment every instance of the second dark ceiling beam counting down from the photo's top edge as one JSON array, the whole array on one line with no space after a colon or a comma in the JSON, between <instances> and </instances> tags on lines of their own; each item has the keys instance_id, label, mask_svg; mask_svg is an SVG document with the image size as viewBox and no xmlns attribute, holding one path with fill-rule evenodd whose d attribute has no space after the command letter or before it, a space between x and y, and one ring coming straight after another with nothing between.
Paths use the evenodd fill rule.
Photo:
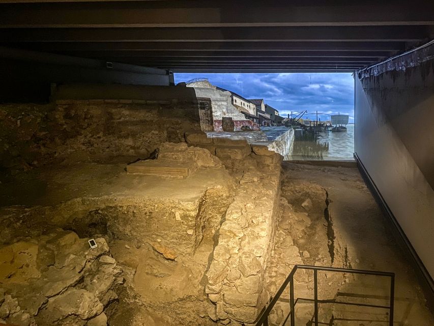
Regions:
<instances>
[{"instance_id":1,"label":"second dark ceiling beam counting down from the photo's top edge","mask_svg":"<svg viewBox=\"0 0 434 326\"><path fill-rule=\"evenodd\" d=\"M432 32L428 26L0 29L0 42L417 42Z\"/></svg>"}]
</instances>

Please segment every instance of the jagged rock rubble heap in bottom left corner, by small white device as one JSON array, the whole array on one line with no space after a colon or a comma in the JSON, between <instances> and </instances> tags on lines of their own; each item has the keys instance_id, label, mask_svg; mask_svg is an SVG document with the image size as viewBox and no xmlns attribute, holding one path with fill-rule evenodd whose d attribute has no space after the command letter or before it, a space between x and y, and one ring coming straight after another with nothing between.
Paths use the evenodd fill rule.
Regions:
<instances>
[{"instance_id":1,"label":"jagged rock rubble heap in bottom left corner, by small white device","mask_svg":"<svg viewBox=\"0 0 434 326\"><path fill-rule=\"evenodd\" d=\"M123 277L105 239L95 241L91 249L88 239L55 229L0 247L0 319L19 326L104 325L104 307Z\"/></svg>"}]
</instances>

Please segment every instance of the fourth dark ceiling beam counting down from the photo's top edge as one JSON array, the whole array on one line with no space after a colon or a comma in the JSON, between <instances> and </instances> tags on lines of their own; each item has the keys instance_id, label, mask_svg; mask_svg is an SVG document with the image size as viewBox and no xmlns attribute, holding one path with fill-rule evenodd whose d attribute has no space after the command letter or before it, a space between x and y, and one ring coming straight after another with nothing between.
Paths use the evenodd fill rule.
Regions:
<instances>
[{"instance_id":1,"label":"fourth dark ceiling beam counting down from the photo's top edge","mask_svg":"<svg viewBox=\"0 0 434 326\"><path fill-rule=\"evenodd\" d=\"M377 60L390 56L389 51L383 52L344 52L344 51L325 51L325 52L305 52L305 51L234 51L234 52L209 52L209 51L147 51L147 50L100 50L100 51L53 51L55 53L67 54L81 57L178 57L178 58L368 58Z\"/></svg>"}]
</instances>

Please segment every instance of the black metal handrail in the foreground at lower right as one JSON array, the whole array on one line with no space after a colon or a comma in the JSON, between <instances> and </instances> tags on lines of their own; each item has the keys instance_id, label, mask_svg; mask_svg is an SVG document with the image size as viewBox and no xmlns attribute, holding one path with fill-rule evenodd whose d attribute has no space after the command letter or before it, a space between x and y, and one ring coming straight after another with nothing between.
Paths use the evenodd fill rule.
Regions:
<instances>
[{"instance_id":1,"label":"black metal handrail in the foreground at lower right","mask_svg":"<svg viewBox=\"0 0 434 326\"><path fill-rule=\"evenodd\" d=\"M314 283L314 298L297 298L294 302L294 274L298 269L311 269L313 270L313 283ZM389 298L389 306L378 306L378 305L368 305L368 304L357 304L357 303L346 303L346 302L338 302L334 300L318 300L318 278L317 272L321 271L334 271L337 273L350 273L350 274L362 274L362 275L375 275L382 277L390 277L390 298ZM295 305L299 300L303 301L313 301L314 302L314 323L315 326L318 326L318 303L334 303L334 304L342 304L342 305L353 305L353 306L363 306L363 307L373 307L373 308L381 308L381 309L389 309L389 326L393 326L393 311L394 311L394 301L395 301L395 273L391 273L388 271L377 271L377 270L363 270L363 269L350 269L350 268L339 268L339 267L323 267L323 266L310 266L310 265L294 265L294 268L291 270L290 275L283 281L282 286L277 290L276 295L272 298L271 302L265 308L263 313L259 316L258 321L256 322L256 326L268 326L268 316L270 315L271 310L273 310L274 305L279 300L280 295L285 290L286 286L290 284L290 312L285 318L285 321L282 325L286 323L288 318L291 317L291 326L295 326Z\"/></svg>"}]
</instances>

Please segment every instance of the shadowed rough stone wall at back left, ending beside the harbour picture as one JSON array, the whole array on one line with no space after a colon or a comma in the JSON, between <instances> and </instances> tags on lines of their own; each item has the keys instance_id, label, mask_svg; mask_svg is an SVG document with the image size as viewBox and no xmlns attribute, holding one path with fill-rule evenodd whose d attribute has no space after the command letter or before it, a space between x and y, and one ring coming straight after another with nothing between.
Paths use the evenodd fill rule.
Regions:
<instances>
[{"instance_id":1,"label":"shadowed rough stone wall at back left, ending beside the harbour picture","mask_svg":"<svg viewBox=\"0 0 434 326\"><path fill-rule=\"evenodd\" d=\"M197 103L177 100L59 99L0 104L0 169L68 160L147 158L166 141L200 130Z\"/></svg>"}]
</instances>

